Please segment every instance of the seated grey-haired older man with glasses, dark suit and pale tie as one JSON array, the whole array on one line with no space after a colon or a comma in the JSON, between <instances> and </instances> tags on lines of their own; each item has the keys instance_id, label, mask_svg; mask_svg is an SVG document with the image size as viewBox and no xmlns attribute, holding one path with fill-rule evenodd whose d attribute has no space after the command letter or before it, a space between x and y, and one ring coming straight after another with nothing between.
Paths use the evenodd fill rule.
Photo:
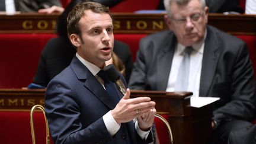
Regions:
<instances>
[{"instance_id":1,"label":"seated grey-haired older man with glasses, dark suit and pale tie","mask_svg":"<svg viewBox=\"0 0 256 144\"><path fill-rule=\"evenodd\" d=\"M209 143L227 143L230 132L251 126L255 117L254 72L247 46L207 26L209 9L204 0L167 0L165 8L170 31L140 41L129 88L220 97L213 105L214 130ZM187 49L190 54L185 53ZM187 55L188 66L184 66ZM187 71L180 71L184 67ZM185 72L188 74L180 76Z\"/></svg>"}]
</instances>

